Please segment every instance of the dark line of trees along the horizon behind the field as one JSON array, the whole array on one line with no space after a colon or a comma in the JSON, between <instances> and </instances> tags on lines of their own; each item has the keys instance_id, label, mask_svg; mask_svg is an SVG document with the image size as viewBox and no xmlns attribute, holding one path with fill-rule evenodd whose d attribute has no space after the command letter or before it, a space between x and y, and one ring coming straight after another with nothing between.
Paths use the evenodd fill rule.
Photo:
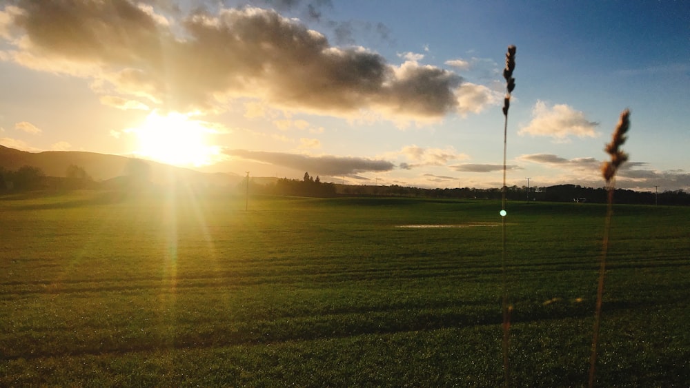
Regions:
<instances>
[{"instance_id":1,"label":"dark line of trees along the horizon behind the field","mask_svg":"<svg viewBox=\"0 0 690 388\"><path fill-rule=\"evenodd\" d=\"M0 167L0 191L8 190L44 190L44 189L86 189L97 188L86 170L78 165L67 167L65 177L46 176L39 167L24 165L17 170ZM132 159L125 166L124 176L127 187L145 186L151 178L150 167L143 161ZM247 179L247 178L246 178ZM284 196L418 196L427 198L480 198L501 199L500 188L477 189L473 187L425 189L400 185L339 185L325 183L319 176L304 173L302 180L280 178L274 183L261 185L252 180L244 180L237 187L239 192L247 188L251 194L270 194ZM607 189L604 187L583 187L580 185L554 185L549 187L506 187L506 198L510 201L546 201L546 202L587 202L606 203ZM616 189L616 203L644 205L690 205L690 193L683 190L664 192L636 192Z\"/></svg>"}]
</instances>

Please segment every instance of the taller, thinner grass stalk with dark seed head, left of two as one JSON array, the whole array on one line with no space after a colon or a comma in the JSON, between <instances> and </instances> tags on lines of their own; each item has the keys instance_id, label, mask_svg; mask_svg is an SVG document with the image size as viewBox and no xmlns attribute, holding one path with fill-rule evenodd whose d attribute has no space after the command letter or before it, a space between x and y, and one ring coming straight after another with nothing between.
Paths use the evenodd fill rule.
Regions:
<instances>
[{"instance_id":1,"label":"taller, thinner grass stalk with dark seed head, left of two","mask_svg":"<svg viewBox=\"0 0 690 388\"><path fill-rule=\"evenodd\" d=\"M506 154L508 150L508 109L511 106L511 93L515 89L515 79L513 78L513 70L515 70L515 51L514 45L508 46L506 52L506 68L503 70L503 78L506 79L506 96L503 103L503 116L505 117L503 125L503 187L502 187L502 256L501 256L501 271L502 271L502 303L501 309L503 312L503 374L504 387L509 386L509 365L508 365L508 350L510 344L510 327L511 327L511 306L508 303L508 280L506 275Z\"/></svg>"}]
</instances>

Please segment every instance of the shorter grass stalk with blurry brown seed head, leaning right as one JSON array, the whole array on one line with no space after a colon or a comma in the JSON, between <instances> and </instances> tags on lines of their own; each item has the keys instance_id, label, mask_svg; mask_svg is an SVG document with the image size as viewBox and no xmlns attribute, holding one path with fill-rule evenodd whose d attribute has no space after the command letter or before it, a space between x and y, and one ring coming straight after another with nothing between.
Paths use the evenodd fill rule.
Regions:
<instances>
[{"instance_id":1,"label":"shorter grass stalk with blurry brown seed head, leaning right","mask_svg":"<svg viewBox=\"0 0 690 388\"><path fill-rule=\"evenodd\" d=\"M613 131L611 143L606 145L604 150L611 155L611 161L604 162L602 165L602 175L606 181L608 191L608 205L606 219L604 221L604 236L602 238L602 255L599 266L599 283L597 286L597 304L594 312L594 333L592 336L592 353L589 359L589 387L594 386L595 367L597 362L597 347L599 345L599 326L602 314L602 297L604 296L604 274L606 274L606 256L609 249L609 231L611 229L611 216L613 216L613 192L615 191L615 172L618 167L628 160L628 154L620 150L620 146L625 143L630 128L630 111L624 110L620 114L618 125Z\"/></svg>"}]
</instances>

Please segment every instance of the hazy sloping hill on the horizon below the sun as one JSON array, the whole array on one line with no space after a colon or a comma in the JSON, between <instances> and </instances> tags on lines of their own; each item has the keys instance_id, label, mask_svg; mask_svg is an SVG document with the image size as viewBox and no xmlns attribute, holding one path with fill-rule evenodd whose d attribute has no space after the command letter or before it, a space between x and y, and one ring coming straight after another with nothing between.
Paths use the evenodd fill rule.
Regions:
<instances>
[{"instance_id":1,"label":"hazy sloping hill on the horizon below the sun","mask_svg":"<svg viewBox=\"0 0 690 388\"><path fill-rule=\"evenodd\" d=\"M38 167L47 176L66 176L70 165L82 167L94 181L108 181L126 174L128 163L134 158L81 151L26 152L0 145L0 167L14 171L23 165ZM154 183L190 183L228 186L237 185L243 177L230 173L205 173L188 168L139 159L149 165Z\"/></svg>"}]
</instances>

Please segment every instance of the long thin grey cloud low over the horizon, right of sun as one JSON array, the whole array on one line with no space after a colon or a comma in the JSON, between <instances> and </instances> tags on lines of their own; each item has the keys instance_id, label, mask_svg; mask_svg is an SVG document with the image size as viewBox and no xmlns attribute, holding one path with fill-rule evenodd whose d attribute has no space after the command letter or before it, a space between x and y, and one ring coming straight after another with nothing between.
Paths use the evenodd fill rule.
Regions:
<instances>
[{"instance_id":1,"label":"long thin grey cloud low over the horizon, right of sun","mask_svg":"<svg viewBox=\"0 0 690 388\"><path fill-rule=\"evenodd\" d=\"M298 171L309 171L319 175L353 175L361 172L391 171L393 163L383 160L353 158L344 156L306 156L283 152L260 152L248 150L224 150L229 156L289 167Z\"/></svg>"}]
</instances>

